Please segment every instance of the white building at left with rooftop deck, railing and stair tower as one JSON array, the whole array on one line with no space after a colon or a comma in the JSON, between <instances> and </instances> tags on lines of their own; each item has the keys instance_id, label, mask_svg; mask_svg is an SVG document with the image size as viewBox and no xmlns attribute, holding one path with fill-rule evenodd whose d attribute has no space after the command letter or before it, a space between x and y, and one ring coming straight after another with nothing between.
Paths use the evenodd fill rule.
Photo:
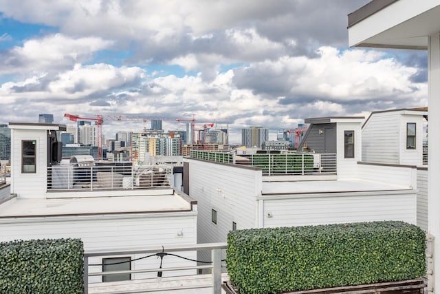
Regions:
<instances>
[{"instance_id":1,"label":"white building at left with rooftop deck, railing and stair tower","mask_svg":"<svg viewBox=\"0 0 440 294\"><path fill-rule=\"evenodd\" d=\"M113 258L96 252L123 252L114 258L129 263L116 270L128 265L137 272L117 277L133 283L157 277L143 271L157 266L157 260L134 261L142 253L124 249L196 245L197 202L174 189L172 167L104 162L92 156L62 160L58 133L65 125L10 123L9 127L12 174L10 194L3 195L3 189L0 193L0 242L80 238L85 251L94 252L90 264ZM197 257L196 249L179 254L187 259L167 258L167 264L182 268L172 275L195 275L196 263L191 260ZM86 267L86 286L108 280L101 273L108 271L103 266ZM164 272L164 277L170 275Z\"/></svg>"}]
</instances>

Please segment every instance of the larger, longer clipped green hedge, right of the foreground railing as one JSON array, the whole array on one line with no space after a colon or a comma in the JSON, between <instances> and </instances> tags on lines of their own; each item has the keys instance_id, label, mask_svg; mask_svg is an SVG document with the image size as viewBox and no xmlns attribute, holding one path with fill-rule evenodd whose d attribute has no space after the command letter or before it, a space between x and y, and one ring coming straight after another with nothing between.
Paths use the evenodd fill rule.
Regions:
<instances>
[{"instance_id":1,"label":"larger, longer clipped green hedge, right of the foreground railing","mask_svg":"<svg viewBox=\"0 0 440 294\"><path fill-rule=\"evenodd\" d=\"M241 294L390 282L426 274L425 233L405 222L247 229L228 234Z\"/></svg>"}]
</instances>

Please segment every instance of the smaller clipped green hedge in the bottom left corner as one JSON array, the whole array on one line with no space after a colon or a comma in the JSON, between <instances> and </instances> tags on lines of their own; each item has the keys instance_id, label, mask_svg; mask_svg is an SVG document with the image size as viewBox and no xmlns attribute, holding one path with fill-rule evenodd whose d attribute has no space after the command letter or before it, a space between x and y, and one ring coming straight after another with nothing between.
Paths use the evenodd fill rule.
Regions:
<instances>
[{"instance_id":1,"label":"smaller clipped green hedge in the bottom left corner","mask_svg":"<svg viewBox=\"0 0 440 294\"><path fill-rule=\"evenodd\" d=\"M0 243L0 293L83 293L79 239Z\"/></svg>"}]
</instances>

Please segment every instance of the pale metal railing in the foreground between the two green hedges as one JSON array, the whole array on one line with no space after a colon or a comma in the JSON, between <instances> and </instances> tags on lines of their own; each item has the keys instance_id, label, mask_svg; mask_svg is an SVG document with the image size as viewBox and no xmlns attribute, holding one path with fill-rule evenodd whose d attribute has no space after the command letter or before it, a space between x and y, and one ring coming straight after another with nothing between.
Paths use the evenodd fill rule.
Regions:
<instances>
[{"instance_id":1,"label":"pale metal railing in the foreground between the two green hedges","mask_svg":"<svg viewBox=\"0 0 440 294\"><path fill-rule=\"evenodd\" d=\"M149 249L126 249L126 250L114 250L114 251L85 251L84 254L84 293L89 293L89 277L103 276L103 275L121 275L121 274L134 274L134 273L162 273L164 271L188 271L194 270L197 271L199 269L208 269L210 270L210 276L212 277L212 284L191 284L189 286L179 286L177 289L173 288L160 288L151 290L148 289L148 292L151 291L171 291L171 290L180 290L183 291L185 289L194 289L194 288L207 288L212 287L213 294L221 293L221 268L222 268L222 260L221 253L225 251L227 244L226 243L207 243L207 244L193 244L188 246L177 245L177 246L160 246L160 247L152 247ZM197 265L197 260L192 260L193 264L190 266L174 266L174 267L162 267L162 264L159 268L148 268L145 267L142 269L142 266L131 266L131 270L127 271L100 271L91 273L89 271L90 266L96 266L94 264L89 264L90 258L109 258L111 256L126 256L126 255L157 255L160 256L166 255L166 253L171 252L184 252L184 251L210 251L211 252L211 262L207 265ZM130 262L135 263L136 260L131 260ZM102 264L100 264L102 265ZM162 275L162 274L161 274ZM173 277L182 277L181 275L176 275ZM132 280L137 281L139 280ZM142 282L142 281L141 281ZM104 283L104 282L102 282ZM112 294L122 294L127 293L126 283L124 283L124 288L118 288L118 283L113 282L112 284ZM139 284L137 283L137 290L130 291L129 293L145 293L146 289L140 289ZM114 288L113 288L114 287Z\"/></svg>"}]
</instances>

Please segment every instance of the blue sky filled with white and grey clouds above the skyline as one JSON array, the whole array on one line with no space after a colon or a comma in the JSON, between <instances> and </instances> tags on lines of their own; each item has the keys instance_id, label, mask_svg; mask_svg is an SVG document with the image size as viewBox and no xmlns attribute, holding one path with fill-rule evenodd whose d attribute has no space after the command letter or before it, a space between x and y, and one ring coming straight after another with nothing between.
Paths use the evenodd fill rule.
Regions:
<instances>
[{"instance_id":1,"label":"blue sky filled with white and grey clouds above the skyline","mask_svg":"<svg viewBox=\"0 0 440 294\"><path fill-rule=\"evenodd\" d=\"M274 140L305 118L427 106L427 52L348 47L368 2L0 0L0 123L104 115L114 138L195 118L241 143L245 127Z\"/></svg>"}]
</instances>

